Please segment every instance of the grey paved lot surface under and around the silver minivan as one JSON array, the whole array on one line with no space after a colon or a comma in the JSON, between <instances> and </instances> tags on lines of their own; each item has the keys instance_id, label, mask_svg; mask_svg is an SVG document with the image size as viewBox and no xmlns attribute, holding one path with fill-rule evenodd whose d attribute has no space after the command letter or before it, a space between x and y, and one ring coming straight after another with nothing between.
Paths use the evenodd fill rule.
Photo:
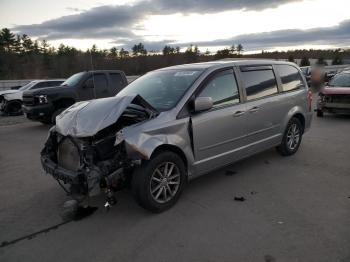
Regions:
<instances>
[{"instance_id":1,"label":"grey paved lot surface under and around the silver minivan","mask_svg":"<svg viewBox=\"0 0 350 262\"><path fill-rule=\"evenodd\" d=\"M40 168L49 127L0 118L0 261L350 261L350 117L314 118L296 155L201 177L165 213L125 191L66 224L66 196Z\"/></svg>"}]
</instances>

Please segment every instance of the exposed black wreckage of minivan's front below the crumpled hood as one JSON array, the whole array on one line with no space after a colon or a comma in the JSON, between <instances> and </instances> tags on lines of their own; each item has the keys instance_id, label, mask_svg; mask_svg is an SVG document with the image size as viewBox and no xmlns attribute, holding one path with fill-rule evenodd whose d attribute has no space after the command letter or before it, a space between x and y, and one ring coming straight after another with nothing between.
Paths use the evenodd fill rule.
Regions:
<instances>
[{"instance_id":1,"label":"exposed black wreckage of minivan's front below the crumpled hood","mask_svg":"<svg viewBox=\"0 0 350 262\"><path fill-rule=\"evenodd\" d=\"M128 182L124 171L137 162L127 159L123 143L114 146L111 140L81 140L50 131L41 152L42 167L76 199L117 191Z\"/></svg>"}]
</instances>

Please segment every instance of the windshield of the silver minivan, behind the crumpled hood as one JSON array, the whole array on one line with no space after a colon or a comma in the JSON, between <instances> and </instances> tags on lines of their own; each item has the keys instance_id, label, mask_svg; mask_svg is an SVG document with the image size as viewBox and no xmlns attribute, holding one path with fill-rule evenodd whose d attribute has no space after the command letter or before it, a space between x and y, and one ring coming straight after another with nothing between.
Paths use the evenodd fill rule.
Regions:
<instances>
[{"instance_id":1,"label":"windshield of the silver minivan, behind the crumpled hood","mask_svg":"<svg viewBox=\"0 0 350 262\"><path fill-rule=\"evenodd\" d=\"M158 111L173 108L202 71L162 70L150 72L129 84L118 96L140 95Z\"/></svg>"}]
</instances>

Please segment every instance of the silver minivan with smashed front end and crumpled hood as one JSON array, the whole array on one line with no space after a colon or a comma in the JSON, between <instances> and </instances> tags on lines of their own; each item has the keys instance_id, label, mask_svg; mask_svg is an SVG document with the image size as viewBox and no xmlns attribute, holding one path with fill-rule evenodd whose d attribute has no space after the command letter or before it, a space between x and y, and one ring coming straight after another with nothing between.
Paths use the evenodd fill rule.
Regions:
<instances>
[{"instance_id":1,"label":"silver minivan with smashed front end and crumpled hood","mask_svg":"<svg viewBox=\"0 0 350 262\"><path fill-rule=\"evenodd\" d=\"M294 154L311 94L293 63L215 61L149 72L117 96L79 102L56 119L41 153L73 198L131 188L144 208L173 206L187 181L271 147Z\"/></svg>"}]
</instances>

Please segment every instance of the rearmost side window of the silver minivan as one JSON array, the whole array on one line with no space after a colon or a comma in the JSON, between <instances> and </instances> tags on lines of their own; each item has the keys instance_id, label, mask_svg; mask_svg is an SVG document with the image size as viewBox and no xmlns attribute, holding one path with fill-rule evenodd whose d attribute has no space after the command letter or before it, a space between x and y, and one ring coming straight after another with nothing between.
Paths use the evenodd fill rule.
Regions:
<instances>
[{"instance_id":1,"label":"rearmost side window of the silver minivan","mask_svg":"<svg viewBox=\"0 0 350 262\"><path fill-rule=\"evenodd\" d=\"M303 79L294 66L276 65L276 68L281 77L284 92L297 90L304 86Z\"/></svg>"}]
</instances>

